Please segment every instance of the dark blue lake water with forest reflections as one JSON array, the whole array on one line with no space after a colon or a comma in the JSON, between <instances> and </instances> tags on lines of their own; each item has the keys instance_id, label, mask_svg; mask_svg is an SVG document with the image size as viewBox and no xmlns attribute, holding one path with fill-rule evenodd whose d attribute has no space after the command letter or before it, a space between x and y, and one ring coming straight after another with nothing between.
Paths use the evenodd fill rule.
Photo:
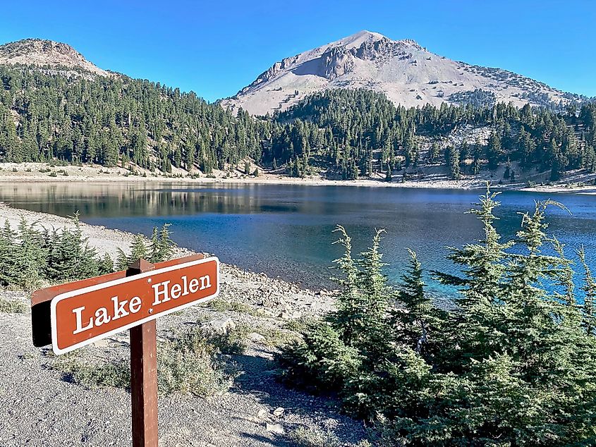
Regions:
<instances>
[{"instance_id":1,"label":"dark blue lake water with forest reflections","mask_svg":"<svg viewBox=\"0 0 596 447\"><path fill-rule=\"evenodd\" d=\"M367 188L305 185L0 183L0 201L14 207L68 216L80 211L88 224L150 234L171 224L178 245L211 252L223 262L303 283L330 286L329 266L342 254L333 233L346 227L355 252L364 250L375 228L382 242L386 273L397 281L406 247L418 252L427 270L451 270L446 246L480 238L481 225L464 214L478 190ZM497 227L506 238L519 228L518 212L535 200L553 198L568 207L551 208L549 232L567 245L580 245L596 270L596 195L503 192ZM435 291L443 290L430 283Z\"/></svg>"}]
</instances>

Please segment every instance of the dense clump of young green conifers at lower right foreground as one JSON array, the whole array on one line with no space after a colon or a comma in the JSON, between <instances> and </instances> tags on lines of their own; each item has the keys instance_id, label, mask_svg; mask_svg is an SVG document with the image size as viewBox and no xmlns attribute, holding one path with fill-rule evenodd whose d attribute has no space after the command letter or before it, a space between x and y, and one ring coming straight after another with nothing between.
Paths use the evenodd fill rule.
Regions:
<instances>
[{"instance_id":1,"label":"dense clump of young green conifers at lower right foreground","mask_svg":"<svg viewBox=\"0 0 596 447\"><path fill-rule=\"evenodd\" d=\"M516 240L501 242L496 196L487 190L471 210L482 239L450 249L461 274L433 272L458 290L452 312L428 297L414 252L394 289L380 233L353 259L340 228L337 310L279 355L282 379L336 393L345 410L377 423L379 445L592 445L596 288L585 254L579 300L564 246L546 236L545 212L561 205L537 202ZM544 255L545 245L557 255Z\"/></svg>"}]
</instances>

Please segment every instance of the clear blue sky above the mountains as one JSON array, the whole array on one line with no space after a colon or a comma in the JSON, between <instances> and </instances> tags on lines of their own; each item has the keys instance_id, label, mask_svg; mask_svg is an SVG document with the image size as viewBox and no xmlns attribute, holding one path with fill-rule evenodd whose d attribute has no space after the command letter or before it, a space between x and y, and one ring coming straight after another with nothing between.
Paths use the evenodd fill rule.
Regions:
<instances>
[{"instance_id":1,"label":"clear blue sky above the mountains","mask_svg":"<svg viewBox=\"0 0 596 447\"><path fill-rule=\"evenodd\" d=\"M66 42L101 68L209 101L360 30L596 96L595 0L29 0L0 9L0 42Z\"/></svg>"}]
</instances>

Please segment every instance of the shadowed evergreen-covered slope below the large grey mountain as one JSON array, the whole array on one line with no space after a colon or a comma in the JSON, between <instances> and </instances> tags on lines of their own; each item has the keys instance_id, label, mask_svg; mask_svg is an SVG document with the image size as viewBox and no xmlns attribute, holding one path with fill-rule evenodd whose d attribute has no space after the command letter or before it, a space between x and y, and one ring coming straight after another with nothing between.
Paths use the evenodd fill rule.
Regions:
<instances>
[{"instance_id":1,"label":"shadowed evergreen-covered slope below the large grey mountain","mask_svg":"<svg viewBox=\"0 0 596 447\"><path fill-rule=\"evenodd\" d=\"M343 178L382 172L389 179L389 173L418 175L423 168L446 165L451 178L504 168L504 180L512 180L516 167L518 174L549 171L546 180L559 180L566 171L595 171L595 117L594 102L564 113L503 103L406 109L375 92L329 90L275 119L320 129L323 141L314 151L304 142L297 149L291 141L298 165L301 152L306 153L303 164L315 154Z\"/></svg>"}]
</instances>

